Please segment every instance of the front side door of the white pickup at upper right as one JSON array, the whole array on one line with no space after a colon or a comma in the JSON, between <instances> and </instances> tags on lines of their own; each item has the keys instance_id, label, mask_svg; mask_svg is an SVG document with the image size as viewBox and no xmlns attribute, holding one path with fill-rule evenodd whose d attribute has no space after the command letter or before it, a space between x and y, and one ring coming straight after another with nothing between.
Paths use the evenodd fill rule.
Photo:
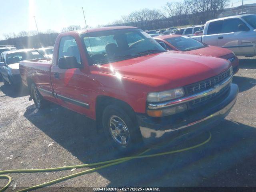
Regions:
<instances>
[{"instance_id":1,"label":"front side door of the white pickup at upper right","mask_svg":"<svg viewBox=\"0 0 256 192\"><path fill-rule=\"evenodd\" d=\"M226 19L218 34L218 46L232 50L237 56L254 55L254 36L253 30L241 19Z\"/></svg>"}]
</instances>

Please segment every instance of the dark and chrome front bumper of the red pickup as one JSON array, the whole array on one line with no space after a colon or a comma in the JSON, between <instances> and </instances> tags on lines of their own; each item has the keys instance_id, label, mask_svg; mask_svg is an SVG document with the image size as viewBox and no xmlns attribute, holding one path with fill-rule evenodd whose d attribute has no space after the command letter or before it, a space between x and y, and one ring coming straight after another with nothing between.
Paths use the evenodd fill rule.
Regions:
<instances>
[{"instance_id":1,"label":"dark and chrome front bumper of the red pickup","mask_svg":"<svg viewBox=\"0 0 256 192\"><path fill-rule=\"evenodd\" d=\"M205 106L196 113L173 118L152 118L146 114L137 114L140 132L145 143L153 145L178 144L216 126L224 120L236 102L238 86L231 84L225 98Z\"/></svg>"}]
</instances>

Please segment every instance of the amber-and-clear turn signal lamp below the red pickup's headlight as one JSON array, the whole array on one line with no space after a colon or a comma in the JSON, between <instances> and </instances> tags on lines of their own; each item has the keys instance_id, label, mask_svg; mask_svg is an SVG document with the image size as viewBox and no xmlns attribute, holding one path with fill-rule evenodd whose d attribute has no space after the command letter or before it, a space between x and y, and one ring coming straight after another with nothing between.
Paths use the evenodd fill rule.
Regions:
<instances>
[{"instance_id":1,"label":"amber-and-clear turn signal lamp below the red pickup's headlight","mask_svg":"<svg viewBox=\"0 0 256 192\"><path fill-rule=\"evenodd\" d=\"M163 117L187 110L186 104L176 105L174 107L164 108L161 110L147 110L147 114L152 117Z\"/></svg>"}]
</instances>

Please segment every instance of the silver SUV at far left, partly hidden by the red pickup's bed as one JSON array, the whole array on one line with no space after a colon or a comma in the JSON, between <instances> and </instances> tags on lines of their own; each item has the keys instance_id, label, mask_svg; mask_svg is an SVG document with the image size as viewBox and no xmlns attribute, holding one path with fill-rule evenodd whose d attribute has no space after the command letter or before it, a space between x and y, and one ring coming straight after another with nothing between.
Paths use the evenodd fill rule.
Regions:
<instances>
[{"instance_id":1,"label":"silver SUV at far left, partly hidden by the red pickup's bed","mask_svg":"<svg viewBox=\"0 0 256 192\"><path fill-rule=\"evenodd\" d=\"M44 58L34 49L20 49L2 52L0 56L0 73L4 85L18 84L21 82L19 62L23 60L32 60Z\"/></svg>"}]
</instances>

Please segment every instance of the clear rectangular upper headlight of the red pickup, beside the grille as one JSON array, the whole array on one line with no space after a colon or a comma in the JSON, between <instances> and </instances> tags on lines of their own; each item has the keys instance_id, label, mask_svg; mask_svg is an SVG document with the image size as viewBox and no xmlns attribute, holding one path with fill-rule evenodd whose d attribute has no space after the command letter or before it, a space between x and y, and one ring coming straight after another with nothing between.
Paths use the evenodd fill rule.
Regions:
<instances>
[{"instance_id":1,"label":"clear rectangular upper headlight of the red pickup, beside the grille","mask_svg":"<svg viewBox=\"0 0 256 192\"><path fill-rule=\"evenodd\" d=\"M184 96L184 94L185 92L182 87L168 90L168 91L152 92L148 94L147 102L167 101L167 100L175 99L178 97L182 97Z\"/></svg>"}]
</instances>

